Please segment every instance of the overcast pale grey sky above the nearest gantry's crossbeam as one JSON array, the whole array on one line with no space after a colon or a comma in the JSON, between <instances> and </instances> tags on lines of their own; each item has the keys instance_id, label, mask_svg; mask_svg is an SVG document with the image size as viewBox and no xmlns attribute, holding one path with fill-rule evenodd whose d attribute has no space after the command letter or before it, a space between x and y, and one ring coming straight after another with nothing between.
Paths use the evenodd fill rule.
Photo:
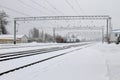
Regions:
<instances>
[{"instance_id":1,"label":"overcast pale grey sky above the nearest gantry's crossbeam","mask_svg":"<svg viewBox=\"0 0 120 80\"><path fill-rule=\"evenodd\" d=\"M6 7L21 13L6 9ZM7 12L10 18L50 15L110 15L113 29L120 28L119 7L120 0L0 0L0 9Z\"/></svg>"}]
</instances>

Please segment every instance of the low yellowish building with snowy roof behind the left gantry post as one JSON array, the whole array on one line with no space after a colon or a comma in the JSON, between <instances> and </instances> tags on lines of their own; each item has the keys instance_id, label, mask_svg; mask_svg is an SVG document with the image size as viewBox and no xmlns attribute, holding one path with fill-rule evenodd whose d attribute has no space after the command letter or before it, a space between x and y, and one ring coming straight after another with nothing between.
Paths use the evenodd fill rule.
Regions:
<instances>
[{"instance_id":1,"label":"low yellowish building with snowy roof behind the left gantry post","mask_svg":"<svg viewBox=\"0 0 120 80\"><path fill-rule=\"evenodd\" d=\"M3 43L13 43L14 42L14 35L0 35L0 44ZM17 43L27 43L28 37L26 35L16 35L16 42Z\"/></svg>"}]
</instances>

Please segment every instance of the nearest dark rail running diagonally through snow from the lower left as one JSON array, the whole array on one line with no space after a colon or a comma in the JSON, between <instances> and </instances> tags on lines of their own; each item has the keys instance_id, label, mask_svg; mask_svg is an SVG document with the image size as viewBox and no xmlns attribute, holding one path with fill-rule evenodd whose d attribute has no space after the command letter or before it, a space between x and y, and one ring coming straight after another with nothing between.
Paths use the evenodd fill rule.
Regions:
<instances>
[{"instance_id":1,"label":"nearest dark rail running diagonally through snow from the lower left","mask_svg":"<svg viewBox=\"0 0 120 80\"><path fill-rule=\"evenodd\" d=\"M82 47L82 46L84 46L84 47ZM31 63L27 63L27 64L25 64L25 65L21 65L21 66L19 66L19 67L15 67L15 68L12 68L12 69L9 69L9 70L0 72L0 76L2 76L2 75L4 75L4 74L7 74L7 73L10 73L10 72L13 72L13 71L16 71L16 70L20 70L20 69L23 69L23 68L26 68L26 67L35 65L35 64L37 64L37 63L41 63L41 62L44 62L44 61L47 61L47 60L50 60L50 59L54 59L54 58L56 58L56 57L59 57L59 56L62 56L62 55L65 55L65 54L68 54L68 53L71 53L71 52L80 50L80 49L82 49L82 48L89 47L89 46L90 46L90 43L78 44L78 45L69 45L69 46L61 47L59 50L69 49L69 48L72 48L72 47L76 47L76 48L75 48L75 49L72 49L72 50L69 50L69 51L67 51L67 52L63 52L63 53L60 53L60 54L56 54L56 55L53 55L53 56L50 56L50 57L47 57L47 58L44 58L44 59L41 59L41 60L37 60L37 61L31 62ZM57 50L57 51L59 51L59 50Z\"/></svg>"}]
</instances>

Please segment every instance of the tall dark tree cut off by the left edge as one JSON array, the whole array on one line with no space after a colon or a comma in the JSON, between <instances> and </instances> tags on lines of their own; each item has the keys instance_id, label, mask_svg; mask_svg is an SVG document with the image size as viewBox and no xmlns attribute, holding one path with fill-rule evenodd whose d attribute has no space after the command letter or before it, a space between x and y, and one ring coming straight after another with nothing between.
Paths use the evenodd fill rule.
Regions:
<instances>
[{"instance_id":1,"label":"tall dark tree cut off by the left edge","mask_svg":"<svg viewBox=\"0 0 120 80\"><path fill-rule=\"evenodd\" d=\"M0 11L0 34L8 33L6 29L6 25L8 24L7 17L8 15L4 11Z\"/></svg>"}]
</instances>

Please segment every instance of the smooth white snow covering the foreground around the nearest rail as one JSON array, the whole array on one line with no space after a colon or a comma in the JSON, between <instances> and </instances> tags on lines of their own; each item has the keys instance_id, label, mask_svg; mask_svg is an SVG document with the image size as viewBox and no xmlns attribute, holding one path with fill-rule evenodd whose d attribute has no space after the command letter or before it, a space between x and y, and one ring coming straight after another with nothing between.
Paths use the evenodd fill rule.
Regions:
<instances>
[{"instance_id":1,"label":"smooth white snow covering the foreground around the nearest rail","mask_svg":"<svg viewBox=\"0 0 120 80\"><path fill-rule=\"evenodd\" d=\"M69 54L2 75L0 80L120 80L119 48L120 45L106 43L83 46ZM0 62L0 72L74 49Z\"/></svg>"}]
</instances>

